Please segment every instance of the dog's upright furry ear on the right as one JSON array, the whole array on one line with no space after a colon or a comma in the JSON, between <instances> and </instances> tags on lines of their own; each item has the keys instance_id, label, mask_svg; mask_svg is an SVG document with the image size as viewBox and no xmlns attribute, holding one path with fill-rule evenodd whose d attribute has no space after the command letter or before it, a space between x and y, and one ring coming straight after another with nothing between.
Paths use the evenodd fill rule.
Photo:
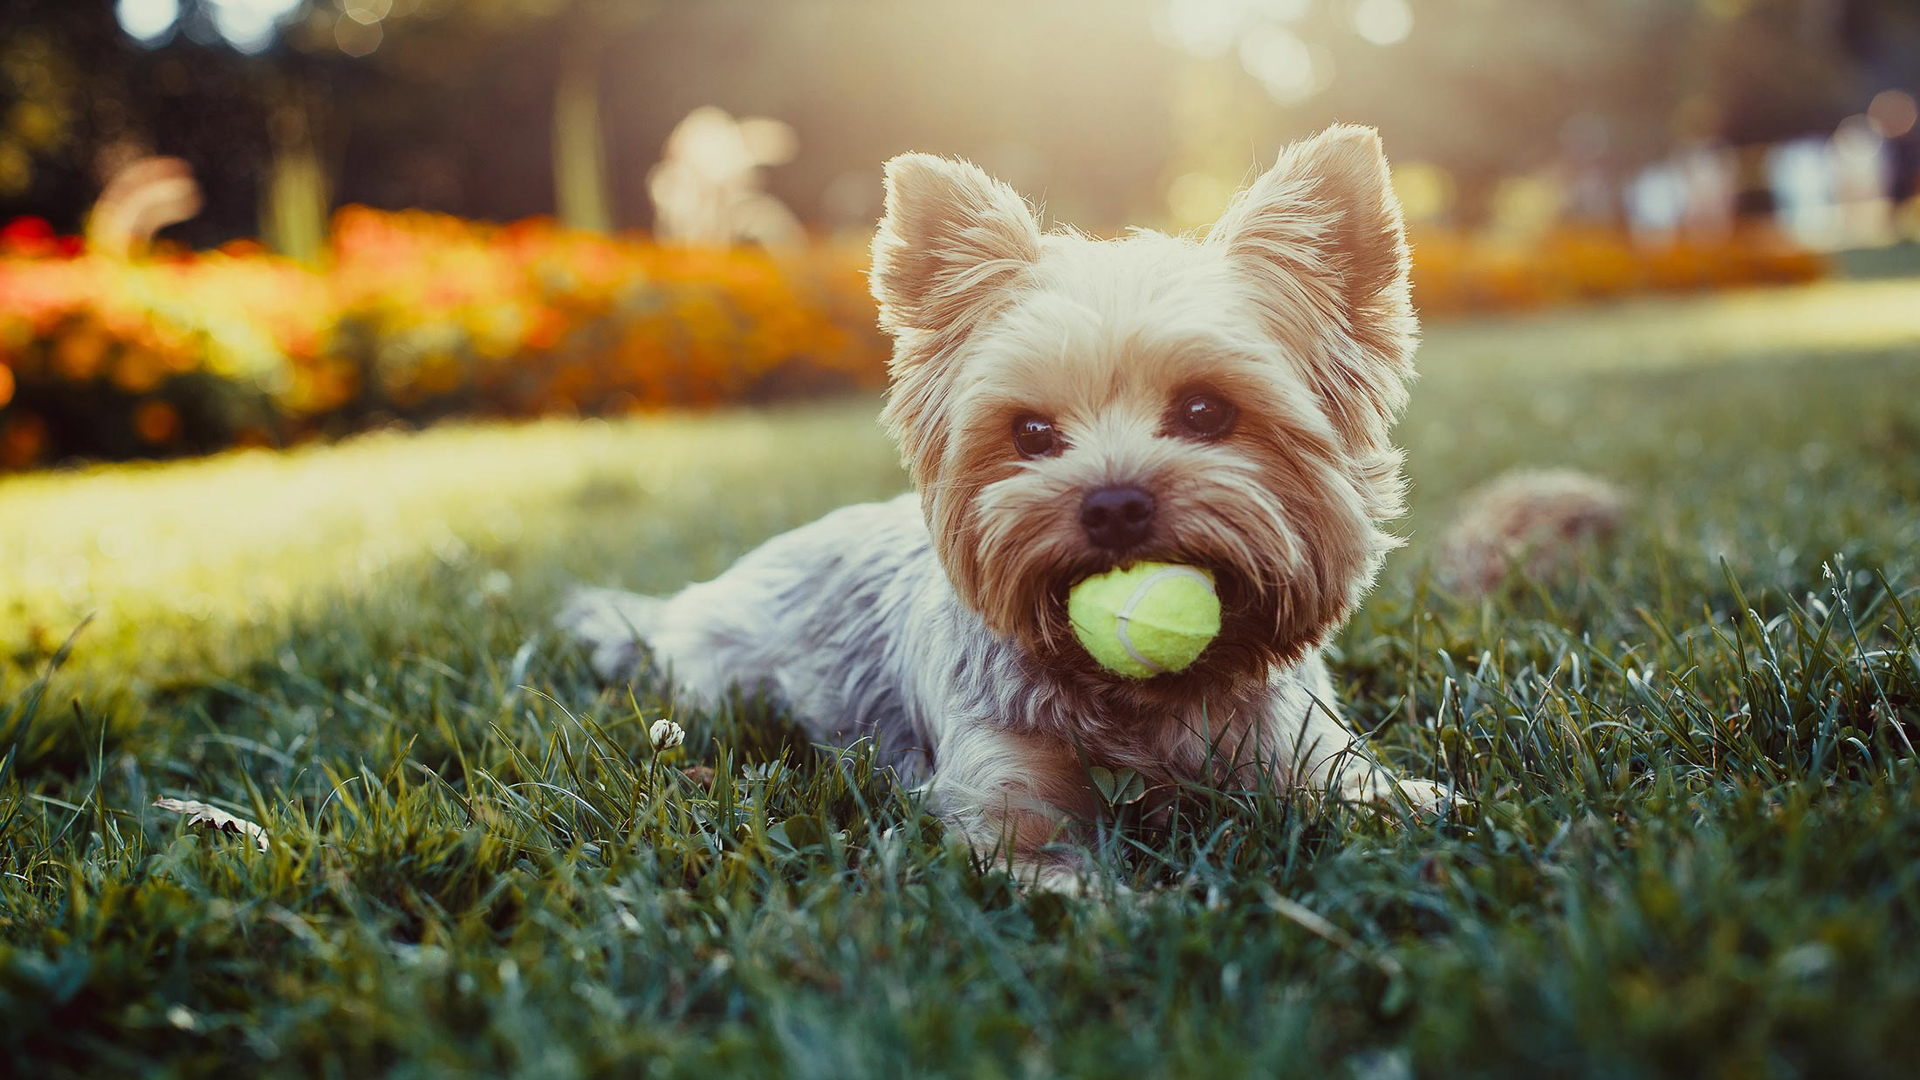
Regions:
<instances>
[{"instance_id":1,"label":"dog's upright furry ear on the right","mask_svg":"<svg viewBox=\"0 0 1920 1080\"><path fill-rule=\"evenodd\" d=\"M1315 392L1357 448L1386 446L1405 405L1417 323L1400 200L1371 127L1334 125L1281 152L1208 231L1254 277L1275 331L1298 342Z\"/></svg>"}]
</instances>

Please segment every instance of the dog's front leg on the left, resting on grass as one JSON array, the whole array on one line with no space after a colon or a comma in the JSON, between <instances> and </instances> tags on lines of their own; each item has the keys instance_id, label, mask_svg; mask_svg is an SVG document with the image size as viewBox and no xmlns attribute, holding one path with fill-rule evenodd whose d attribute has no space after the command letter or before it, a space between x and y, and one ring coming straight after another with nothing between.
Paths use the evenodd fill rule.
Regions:
<instances>
[{"instance_id":1,"label":"dog's front leg on the left, resting on grass","mask_svg":"<svg viewBox=\"0 0 1920 1080\"><path fill-rule=\"evenodd\" d=\"M931 796L981 859L1008 865L1027 886L1083 890L1085 863L1068 844L1098 807L1073 748L991 723L956 723L935 751Z\"/></svg>"}]
</instances>

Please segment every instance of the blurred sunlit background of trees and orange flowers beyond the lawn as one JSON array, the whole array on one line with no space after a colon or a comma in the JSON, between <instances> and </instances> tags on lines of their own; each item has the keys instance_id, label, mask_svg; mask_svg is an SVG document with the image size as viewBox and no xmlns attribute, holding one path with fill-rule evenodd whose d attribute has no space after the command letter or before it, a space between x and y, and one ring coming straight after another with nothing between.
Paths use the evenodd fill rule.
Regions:
<instances>
[{"instance_id":1,"label":"blurred sunlit background of trees and orange flowers beyond the lawn","mask_svg":"<svg viewBox=\"0 0 1920 1080\"><path fill-rule=\"evenodd\" d=\"M879 165L1192 229L1382 131L1428 323L1920 267L1910 0L10 0L0 469L876 388Z\"/></svg>"}]
</instances>

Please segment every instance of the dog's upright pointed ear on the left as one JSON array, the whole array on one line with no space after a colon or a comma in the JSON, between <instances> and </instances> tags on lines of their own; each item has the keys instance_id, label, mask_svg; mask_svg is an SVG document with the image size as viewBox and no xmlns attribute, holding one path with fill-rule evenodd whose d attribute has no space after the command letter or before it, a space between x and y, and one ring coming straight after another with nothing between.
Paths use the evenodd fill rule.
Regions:
<instances>
[{"instance_id":1,"label":"dog's upright pointed ear on the left","mask_svg":"<svg viewBox=\"0 0 1920 1080\"><path fill-rule=\"evenodd\" d=\"M947 331L1000 296L1041 254L1041 227L1014 188L968 161L887 161L874 234L874 300L887 331Z\"/></svg>"}]
</instances>

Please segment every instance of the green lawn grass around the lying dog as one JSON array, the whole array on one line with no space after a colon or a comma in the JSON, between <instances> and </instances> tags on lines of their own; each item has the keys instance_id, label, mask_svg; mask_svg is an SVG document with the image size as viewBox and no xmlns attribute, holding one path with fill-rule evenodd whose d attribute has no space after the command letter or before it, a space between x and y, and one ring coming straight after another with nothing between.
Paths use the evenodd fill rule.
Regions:
<instances>
[{"instance_id":1,"label":"green lawn grass around the lying dog","mask_svg":"<svg viewBox=\"0 0 1920 1080\"><path fill-rule=\"evenodd\" d=\"M1131 897L1020 894L755 701L655 755L655 688L547 630L899 490L872 402L4 480L8 1072L1910 1076L1916 294L1436 329L1336 671L1475 803L1121 805ZM1626 534L1440 596L1513 465L1628 486Z\"/></svg>"}]
</instances>

